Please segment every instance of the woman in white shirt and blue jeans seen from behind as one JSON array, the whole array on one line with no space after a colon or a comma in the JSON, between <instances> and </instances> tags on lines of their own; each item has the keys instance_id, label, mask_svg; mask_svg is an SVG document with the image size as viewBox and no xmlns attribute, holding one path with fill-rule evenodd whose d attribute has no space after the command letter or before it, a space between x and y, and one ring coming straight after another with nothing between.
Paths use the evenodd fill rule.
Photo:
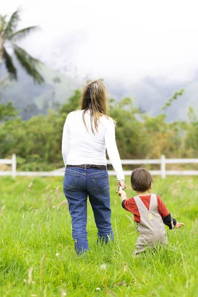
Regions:
<instances>
[{"instance_id":1,"label":"woman in white shirt and blue jeans seen from behind","mask_svg":"<svg viewBox=\"0 0 198 297\"><path fill-rule=\"evenodd\" d=\"M105 88L100 81L87 84L81 110L68 114L62 137L66 166L63 191L68 200L72 236L77 253L89 249L87 240L87 198L94 212L98 237L113 239L106 149L117 173L117 184L125 189L125 179L115 142L115 122L107 116Z\"/></svg>"}]
</instances>

